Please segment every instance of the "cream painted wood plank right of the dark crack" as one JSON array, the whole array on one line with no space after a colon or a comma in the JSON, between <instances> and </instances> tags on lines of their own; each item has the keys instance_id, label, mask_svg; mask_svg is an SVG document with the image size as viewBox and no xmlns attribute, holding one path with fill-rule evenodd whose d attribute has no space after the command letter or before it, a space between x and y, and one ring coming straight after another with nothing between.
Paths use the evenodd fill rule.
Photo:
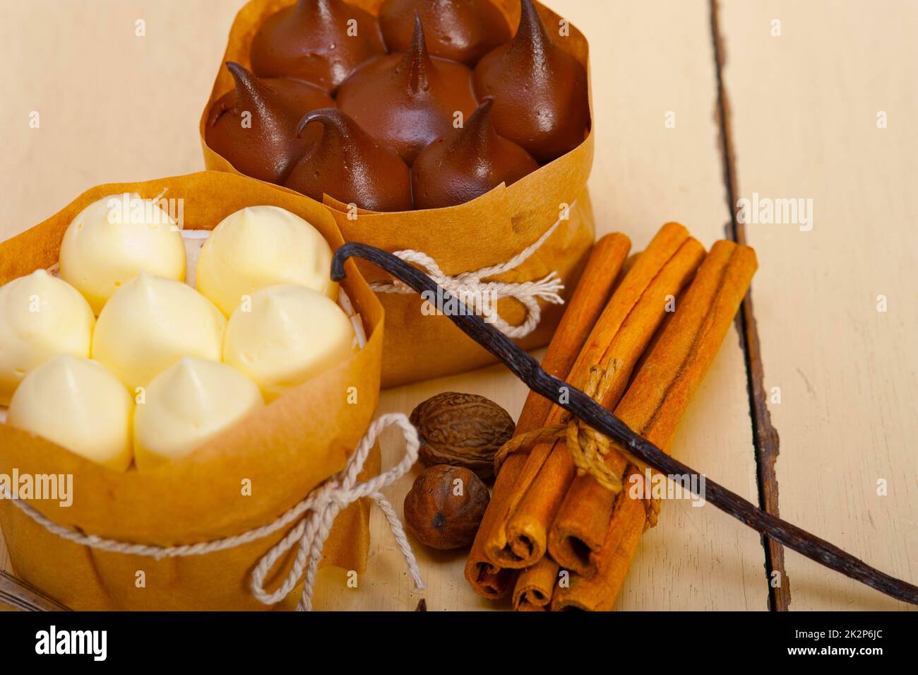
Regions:
<instances>
[{"instance_id":1,"label":"cream painted wood plank right of the dark crack","mask_svg":"<svg viewBox=\"0 0 918 675\"><path fill-rule=\"evenodd\" d=\"M721 5L738 197L813 204L812 231L746 226L766 388L781 393L781 515L913 583L918 6ZM792 610L907 607L792 552L786 566Z\"/></svg>"}]
</instances>

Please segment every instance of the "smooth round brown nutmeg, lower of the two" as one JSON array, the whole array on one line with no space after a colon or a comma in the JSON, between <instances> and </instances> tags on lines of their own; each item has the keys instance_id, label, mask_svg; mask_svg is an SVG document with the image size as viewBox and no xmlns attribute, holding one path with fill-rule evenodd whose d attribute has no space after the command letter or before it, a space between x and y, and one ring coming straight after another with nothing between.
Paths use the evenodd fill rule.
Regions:
<instances>
[{"instance_id":1,"label":"smooth round brown nutmeg, lower of the two","mask_svg":"<svg viewBox=\"0 0 918 675\"><path fill-rule=\"evenodd\" d=\"M467 468L425 468L405 496L405 522L421 544L447 550L471 544L491 498Z\"/></svg>"}]
</instances>

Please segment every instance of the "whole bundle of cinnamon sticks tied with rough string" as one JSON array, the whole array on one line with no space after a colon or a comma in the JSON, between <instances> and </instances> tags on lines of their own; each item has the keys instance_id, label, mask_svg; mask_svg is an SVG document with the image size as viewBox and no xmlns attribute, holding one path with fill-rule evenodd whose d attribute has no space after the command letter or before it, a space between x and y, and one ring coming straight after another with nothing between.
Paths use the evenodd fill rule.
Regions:
<instances>
[{"instance_id":1,"label":"whole bundle of cinnamon sticks tied with rough string","mask_svg":"<svg viewBox=\"0 0 918 675\"><path fill-rule=\"evenodd\" d=\"M678 223L629 260L630 247L618 233L597 242L543 368L668 452L749 287L756 254L726 241L706 254ZM531 392L517 433L565 423L560 406ZM542 438L503 461L465 567L485 597L512 590L521 611L609 610L618 597L659 504L613 491L644 471L614 443L597 473L575 464L570 438Z\"/></svg>"}]
</instances>

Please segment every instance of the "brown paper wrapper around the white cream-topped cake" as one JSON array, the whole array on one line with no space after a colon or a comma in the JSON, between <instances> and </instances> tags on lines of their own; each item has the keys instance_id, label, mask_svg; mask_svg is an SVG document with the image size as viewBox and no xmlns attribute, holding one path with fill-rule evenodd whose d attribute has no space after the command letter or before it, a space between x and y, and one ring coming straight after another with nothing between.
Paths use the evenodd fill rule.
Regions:
<instances>
[{"instance_id":1,"label":"brown paper wrapper around the white cream-topped cake","mask_svg":"<svg viewBox=\"0 0 918 675\"><path fill-rule=\"evenodd\" d=\"M342 243L334 219L319 204L239 175L203 172L94 187L50 219L0 244L0 284L57 263L73 217L96 199L123 192L184 199L186 230L212 230L240 208L273 205L307 219L332 249ZM353 262L342 287L364 321L364 348L190 456L149 472L132 468L118 473L0 424L0 473L11 476L16 467L20 475L73 474L72 506L29 501L31 506L55 523L123 542L180 546L272 523L344 467L379 398L383 310ZM353 391L356 404L348 402ZM376 448L364 475L378 469ZM250 481L251 496L243 496L243 481ZM323 565L364 571L368 518L369 503L341 512L325 543ZM17 575L77 610L268 609L249 591L250 571L289 529L218 553L155 560L64 541L8 500L0 500L0 526ZM295 554L296 546L275 565L267 588L279 586Z\"/></svg>"}]
</instances>

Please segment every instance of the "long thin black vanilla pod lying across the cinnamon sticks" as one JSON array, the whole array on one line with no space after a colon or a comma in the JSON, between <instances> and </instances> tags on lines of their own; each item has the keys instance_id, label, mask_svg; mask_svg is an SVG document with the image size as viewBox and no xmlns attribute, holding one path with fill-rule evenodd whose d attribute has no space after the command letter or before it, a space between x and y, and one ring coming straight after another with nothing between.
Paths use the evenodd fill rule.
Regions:
<instances>
[{"instance_id":1,"label":"long thin black vanilla pod lying across the cinnamon sticks","mask_svg":"<svg viewBox=\"0 0 918 675\"><path fill-rule=\"evenodd\" d=\"M583 391L567 384L564 380L545 373L542 366L513 343L506 335L487 324L480 316L466 309L458 300L452 298L448 291L439 288L430 276L404 262L392 253L386 253L364 243L346 243L335 252L331 261L331 278L340 281L344 278L344 263L351 257L364 258L386 270L390 275L409 285L418 293L427 291L434 298L442 298L443 305L450 304L457 311L450 314L450 320L461 328L469 337L482 345L488 352L497 356L512 372L533 391L546 399L557 402L565 411L587 422L593 428L605 433L611 439L622 444L629 453L645 464L667 476L688 475L689 485L703 484L703 497L723 512L727 512L756 532L765 534L784 546L815 560L827 568L841 572L851 579L877 589L880 592L904 602L918 604L918 587L907 581L895 579L879 569L871 568L862 560L846 553L834 544L821 539L815 534L800 529L771 513L767 513L744 500L735 492L726 489L705 477L700 481L698 471L666 455L660 448L634 433L627 424L610 411L605 410L595 400L590 399ZM438 295L439 294L439 295ZM454 304L453 304L454 303ZM567 402L559 400L561 392L567 393ZM694 490L693 490L694 491Z\"/></svg>"}]
</instances>

